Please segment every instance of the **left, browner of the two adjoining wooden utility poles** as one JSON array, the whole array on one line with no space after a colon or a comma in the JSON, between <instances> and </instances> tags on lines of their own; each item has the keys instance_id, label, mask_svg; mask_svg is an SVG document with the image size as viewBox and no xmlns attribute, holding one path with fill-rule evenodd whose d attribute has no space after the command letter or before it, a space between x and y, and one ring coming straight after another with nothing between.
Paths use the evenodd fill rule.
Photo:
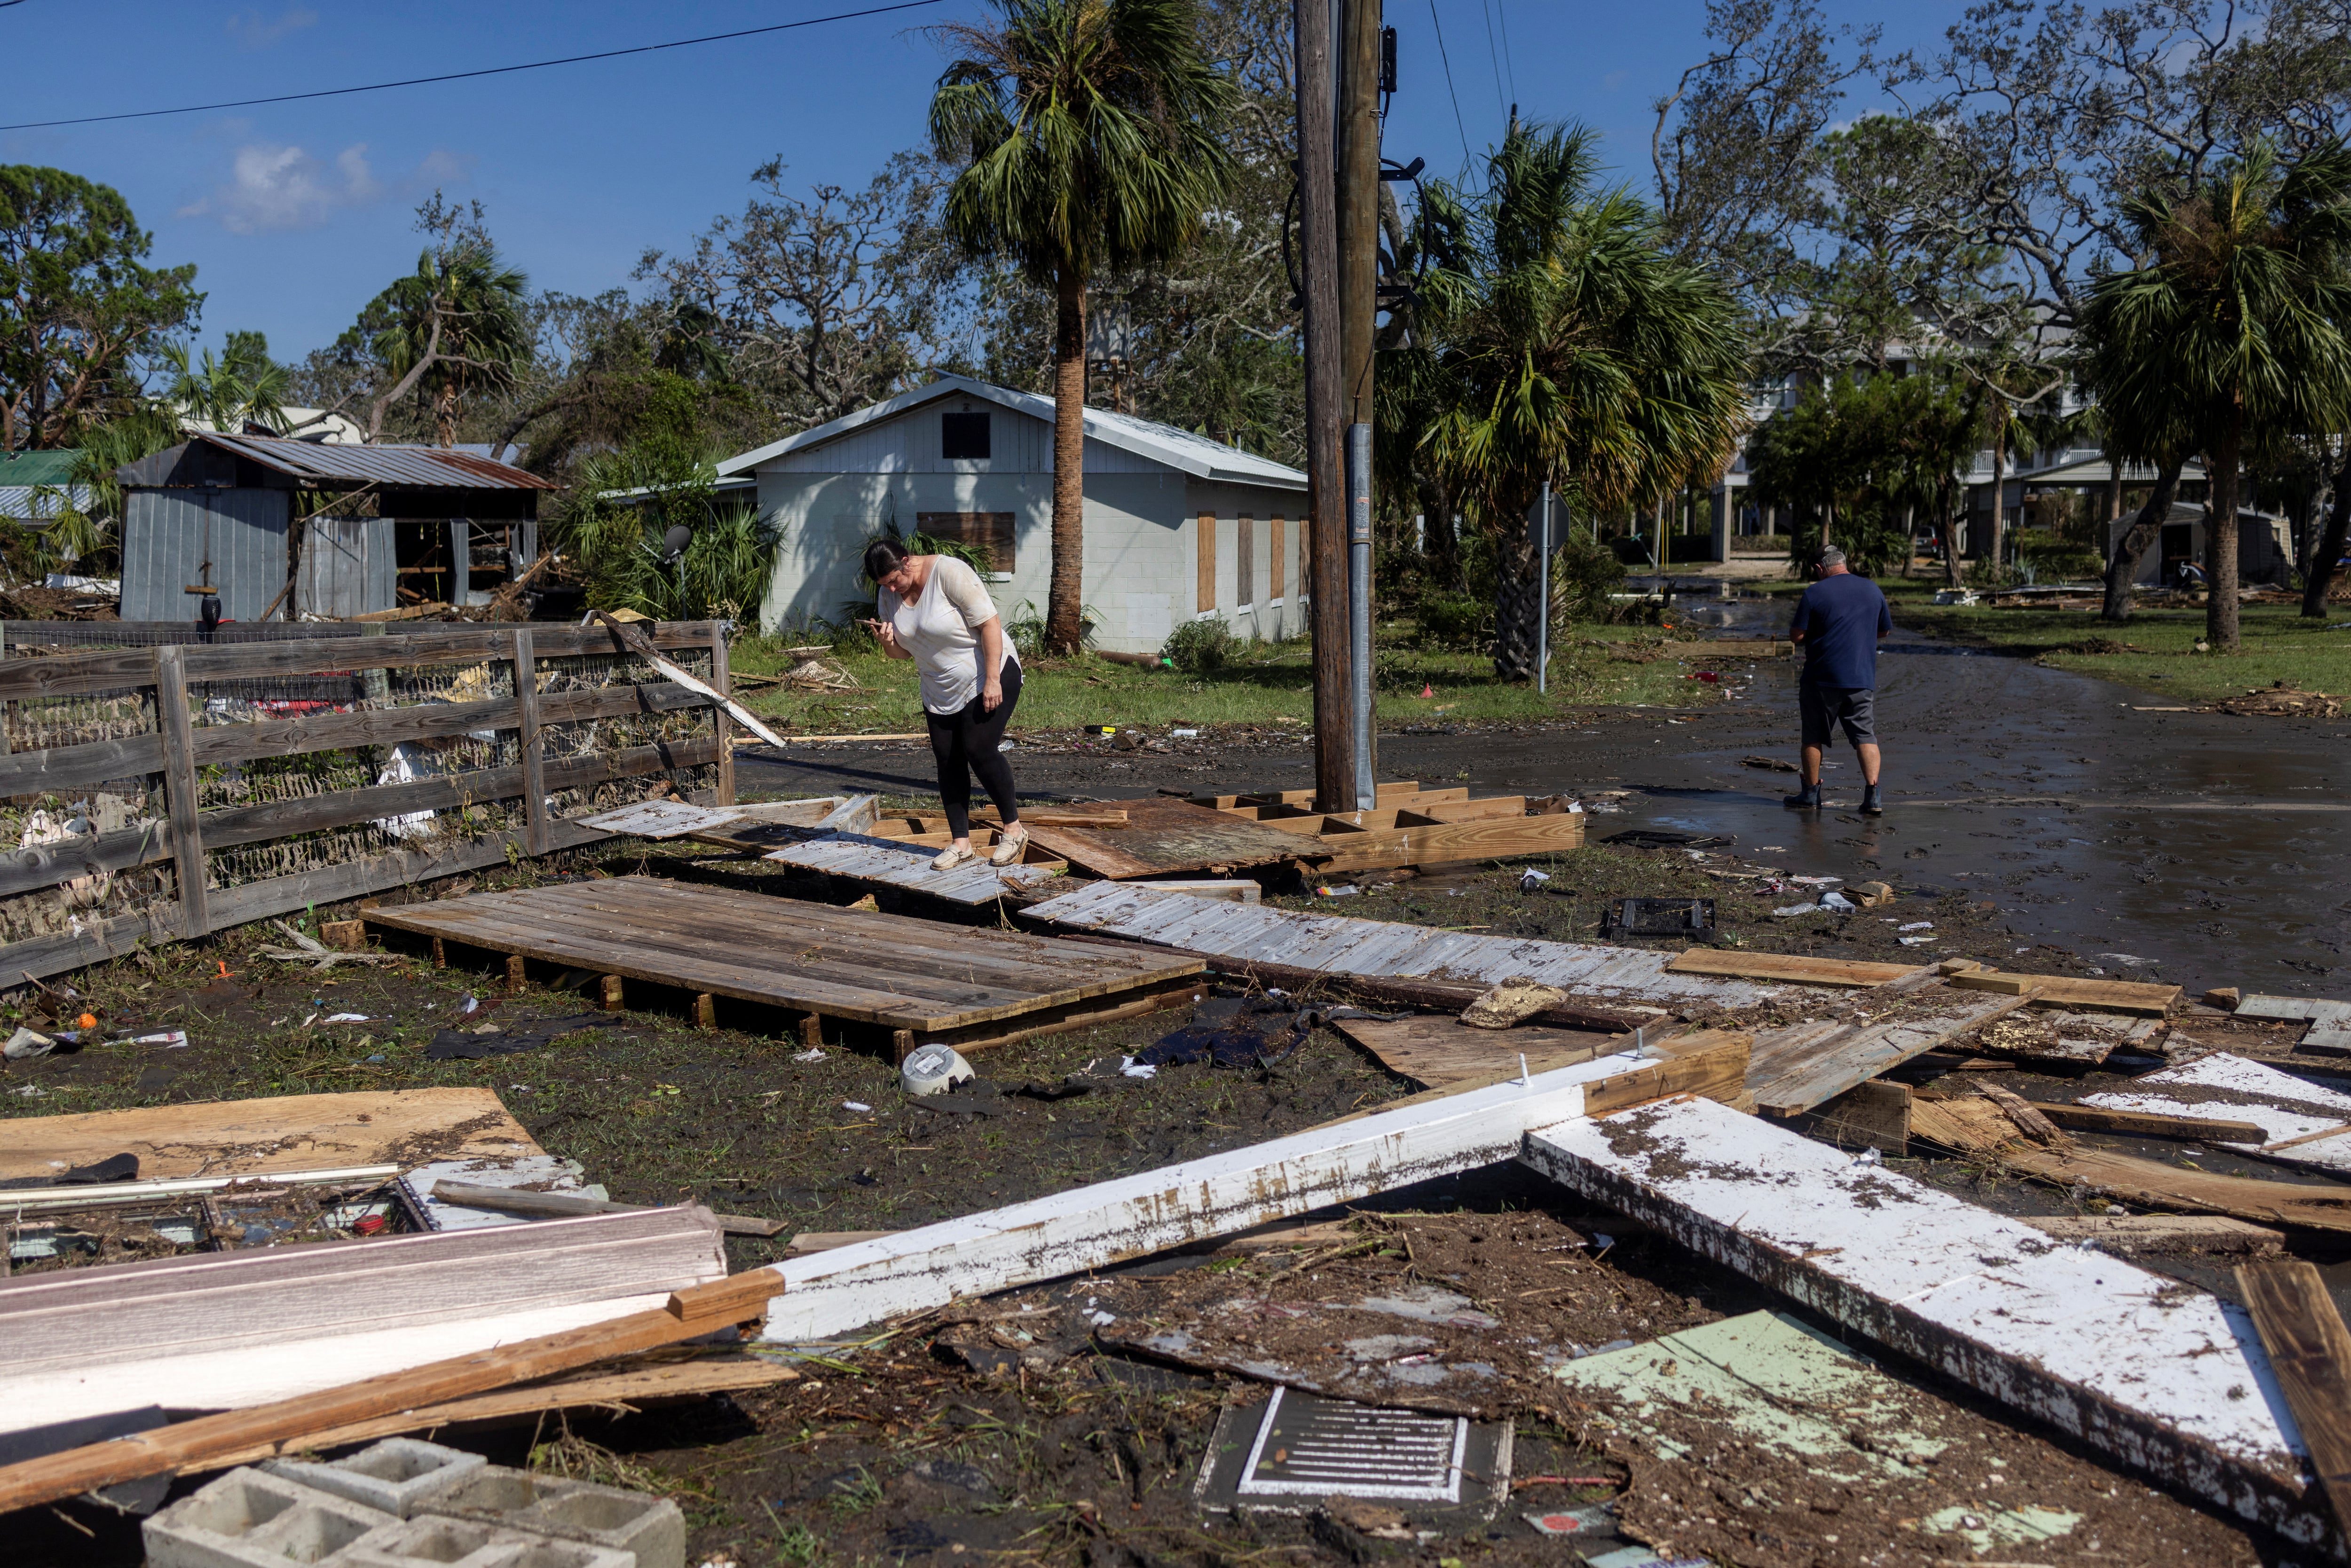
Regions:
<instances>
[{"instance_id":1,"label":"left, browner of the two adjoining wooden utility poles","mask_svg":"<svg viewBox=\"0 0 2351 1568\"><path fill-rule=\"evenodd\" d=\"M1298 31L1298 254L1305 273L1307 552L1314 562L1314 804L1354 809L1354 696L1347 679L1347 487L1340 421L1338 209L1331 0L1293 0Z\"/></svg>"}]
</instances>

